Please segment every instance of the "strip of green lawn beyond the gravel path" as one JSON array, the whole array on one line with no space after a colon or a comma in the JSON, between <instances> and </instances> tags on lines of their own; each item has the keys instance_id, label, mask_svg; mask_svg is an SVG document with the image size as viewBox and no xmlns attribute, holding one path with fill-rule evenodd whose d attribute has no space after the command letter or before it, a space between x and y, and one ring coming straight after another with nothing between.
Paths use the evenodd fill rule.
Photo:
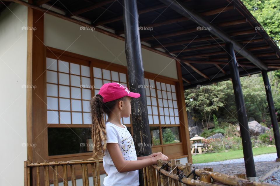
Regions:
<instances>
[{"instance_id":1,"label":"strip of green lawn beyond the gravel path","mask_svg":"<svg viewBox=\"0 0 280 186\"><path fill-rule=\"evenodd\" d=\"M275 152L276 152L275 147L259 147L253 149L253 155L275 153ZM194 164L207 163L207 162L217 162L217 161L231 160L237 158L243 158L243 150L192 155L192 162Z\"/></svg>"}]
</instances>

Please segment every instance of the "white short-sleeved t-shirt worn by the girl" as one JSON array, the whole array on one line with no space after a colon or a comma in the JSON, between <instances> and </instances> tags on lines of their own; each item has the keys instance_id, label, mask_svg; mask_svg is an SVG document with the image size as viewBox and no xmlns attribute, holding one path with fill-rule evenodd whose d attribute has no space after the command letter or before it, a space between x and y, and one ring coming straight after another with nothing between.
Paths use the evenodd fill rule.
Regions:
<instances>
[{"instance_id":1,"label":"white short-sleeved t-shirt worn by the girl","mask_svg":"<svg viewBox=\"0 0 280 186\"><path fill-rule=\"evenodd\" d=\"M106 143L118 143L125 161L137 160L134 142L126 126L122 124L124 127L122 128L110 122L105 124ZM101 144L103 145L104 143L101 142ZM103 167L108 174L104 178L104 186L138 186L140 184L138 170L118 172L107 149L105 150L105 156L103 156Z\"/></svg>"}]
</instances>

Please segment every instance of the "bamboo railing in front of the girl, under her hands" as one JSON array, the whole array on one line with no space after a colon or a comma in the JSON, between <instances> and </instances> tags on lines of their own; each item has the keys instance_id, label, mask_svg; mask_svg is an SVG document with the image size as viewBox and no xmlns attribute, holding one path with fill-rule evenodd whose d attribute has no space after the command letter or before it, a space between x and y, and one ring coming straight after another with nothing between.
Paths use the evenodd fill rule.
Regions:
<instances>
[{"instance_id":1,"label":"bamboo railing in front of the girl, under her hands","mask_svg":"<svg viewBox=\"0 0 280 186\"><path fill-rule=\"evenodd\" d=\"M275 186L269 183L254 182L246 179L245 174L228 176L213 172L213 168L203 170L193 167L191 163L185 165L180 160L157 160L157 165L143 168L144 186Z\"/></svg>"}]
</instances>

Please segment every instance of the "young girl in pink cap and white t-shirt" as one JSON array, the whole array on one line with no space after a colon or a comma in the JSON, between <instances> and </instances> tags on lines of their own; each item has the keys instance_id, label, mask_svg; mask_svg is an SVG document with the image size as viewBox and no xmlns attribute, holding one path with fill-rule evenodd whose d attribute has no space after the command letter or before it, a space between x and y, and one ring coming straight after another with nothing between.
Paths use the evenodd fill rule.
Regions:
<instances>
[{"instance_id":1,"label":"young girl in pink cap and white t-shirt","mask_svg":"<svg viewBox=\"0 0 280 186\"><path fill-rule=\"evenodd\" d=\"M158 159L168 160L161 152L137 157L132 136L121 123L122 117L131 114L131 98L139 96L120 83L105 83L90 101L93 155L97 159L102 151L103 167L108 174L104 186L137 186L139 169L156 164ZM108 116L106 123L104 113Z\"/></svg>"}]
</instances>

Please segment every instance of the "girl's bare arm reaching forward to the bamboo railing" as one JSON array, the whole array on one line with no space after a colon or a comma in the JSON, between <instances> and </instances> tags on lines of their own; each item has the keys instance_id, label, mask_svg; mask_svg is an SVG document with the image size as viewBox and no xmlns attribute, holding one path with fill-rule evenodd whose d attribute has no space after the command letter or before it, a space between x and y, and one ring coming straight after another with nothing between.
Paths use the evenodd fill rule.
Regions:
<instances>
[{"instance_id":1,"label":"girl's bare arm reaching forward to the bamboo railing","mask_svg":"<svg viewBox=\"0 0 280 186\"><path fill-rule=\"evenodd\" d=\"M166 155L159 154L155 157L145 158L141 160L126 161L124 160L122 152L120 151L120 147L117 143L107 143L106 147L118 172L139 170L149 165L156 164L158 159L165 161L168 160L168 157Z\"/></svg>"}]
</instances>

